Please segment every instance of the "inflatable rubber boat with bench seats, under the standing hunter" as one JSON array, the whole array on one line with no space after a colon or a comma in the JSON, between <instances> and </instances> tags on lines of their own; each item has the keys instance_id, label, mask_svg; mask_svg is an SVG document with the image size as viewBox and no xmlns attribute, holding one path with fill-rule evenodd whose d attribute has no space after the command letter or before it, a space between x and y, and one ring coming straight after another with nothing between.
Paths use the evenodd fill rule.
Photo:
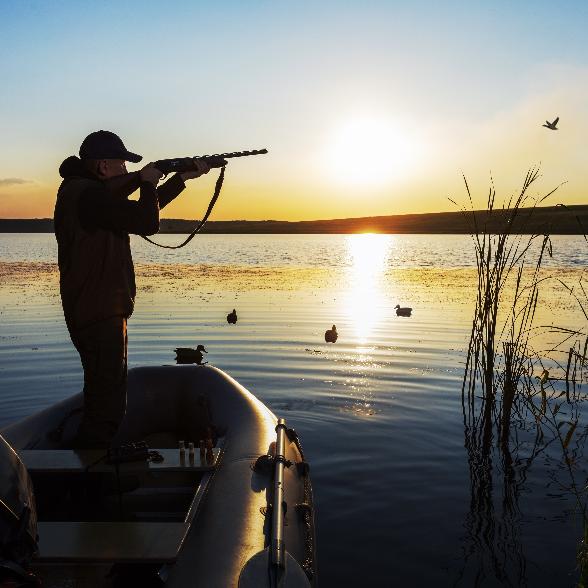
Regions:
<instances>
[{"instance_id":1,"label":"inflatable rubber boat with bench seats, under the standing hunter","mask_svg":"<svg viewBox=\"0 0 588 588\"><path fill-rule=\"evenodd\" d=\"M317 586L300 439L231 376L129 370L107 451L72 449L81 408L77 394L0 430L0 585Z\"/></svg>"}]
</instances>

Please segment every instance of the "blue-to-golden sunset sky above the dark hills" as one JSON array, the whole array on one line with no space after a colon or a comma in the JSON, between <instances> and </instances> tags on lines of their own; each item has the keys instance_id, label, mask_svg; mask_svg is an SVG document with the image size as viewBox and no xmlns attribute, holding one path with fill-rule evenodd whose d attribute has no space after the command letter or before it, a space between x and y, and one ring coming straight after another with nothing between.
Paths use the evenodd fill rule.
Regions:
<instances>
[{"instance_id":1,"label":"blue-to-golden sunset sky above the dark hills","mask_svg":"<svg viewBox=\"0 0 588 588\"><path fill-rule=\"evenodd\" d=\"M537 165L534 196L585 204L587 28L585 0L1 0L0 218L52 217L99 129L144 163L267 148L211 220L450 211L464 176L482 207ZM162 217L200 218L215 179Z\"/></svg>"}]
</instances>

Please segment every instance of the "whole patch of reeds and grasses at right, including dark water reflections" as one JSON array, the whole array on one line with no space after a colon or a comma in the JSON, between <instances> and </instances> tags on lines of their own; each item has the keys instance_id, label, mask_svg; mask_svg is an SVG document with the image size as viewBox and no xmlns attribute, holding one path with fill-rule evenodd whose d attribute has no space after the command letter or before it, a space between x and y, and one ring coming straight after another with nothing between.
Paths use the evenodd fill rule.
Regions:
<instances>
[{"instance_id":1,"label":"whole patch of reeds and grasses at right, including dark water reflections","mask_svg":"<svg viewBox=\"0 0 588 588\"><path fill-rule=\"evenodd\" d=\"M539 456L548 467L553 464L548 475L576 504L584 527L578 550L580 578L588 569L588 496L578 481L586 479L582 385L588 376L588 298L581 275L579 282L570 284L561 274L544 271L543 262L552 255L549 226L542 234L512 232L515 224L520 227L530 221L535 207L555 192L532 197L538 177L539 170L531 169L520 192L501 208L495 206L491 186L481 218L464 178L471 208L462 208L462 213L470 223L477 261L475 310L461 391L472 486L464 571L475 555L481 576L509 585L526 582L519 497ZM530 210L525 219L519 218L523 207ZM492 233L488 223L495 216L501 217L504 228ZM540 295L543 290L555 292L560 301L567 294L566 304L552 304L550 309ZM574 316L583 320L576 318L569 326L565 317L551 312L548 324L554 306L574 307ZM501 509L495 498L499 492Z\"/></svg>"}]
</instances>

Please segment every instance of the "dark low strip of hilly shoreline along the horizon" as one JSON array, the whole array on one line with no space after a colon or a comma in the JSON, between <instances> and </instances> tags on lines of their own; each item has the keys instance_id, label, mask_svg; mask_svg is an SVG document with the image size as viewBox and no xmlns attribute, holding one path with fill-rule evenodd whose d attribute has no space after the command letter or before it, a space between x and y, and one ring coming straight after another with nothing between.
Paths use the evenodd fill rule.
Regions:
<instances>
[{"instance_id":1,"label":"dark low strip of hilly shoreline along the horizon","mask_svg":"<svg viewBox=\"0 0 588 588\"><path fill-rule=\"evenodd\" d=\"M488 232L504 228L501 210L492 214L476 211L478 225ZM472 214L435 212L313 221L209 221L202 232L208 234L469 234ZM189 233L196 221L162 219L160 233ZM522 231L521 226L526 230ZM582 235L588 229L588 205L522 208L513 233ZM53 219L0 219L0 233L53 233Z\"/></svg>"}]
</instances>

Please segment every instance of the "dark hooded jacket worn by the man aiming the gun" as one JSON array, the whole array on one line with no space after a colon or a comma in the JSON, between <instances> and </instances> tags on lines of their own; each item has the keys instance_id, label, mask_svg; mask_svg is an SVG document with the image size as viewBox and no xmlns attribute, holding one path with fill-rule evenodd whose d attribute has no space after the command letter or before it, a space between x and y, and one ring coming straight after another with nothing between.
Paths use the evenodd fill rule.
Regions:
<instances>
[{"instance_id":1,"label":"dark hooded jacket worn by the man aiming the gun","mask_svg":"<svg viewBox=\"0 0 588 588\"><path fill-rule=\"evenodd\" d=\"M135 271L129 233L159 230L159 209L185 187L179 175L160 188L140 183L117 191L88 173L75 157L66 159L55 204L60 291L70 331L112 316L129 317L135 303ZM140 188L139 200L127 194Z\"/></svg>"}]
</instances>

